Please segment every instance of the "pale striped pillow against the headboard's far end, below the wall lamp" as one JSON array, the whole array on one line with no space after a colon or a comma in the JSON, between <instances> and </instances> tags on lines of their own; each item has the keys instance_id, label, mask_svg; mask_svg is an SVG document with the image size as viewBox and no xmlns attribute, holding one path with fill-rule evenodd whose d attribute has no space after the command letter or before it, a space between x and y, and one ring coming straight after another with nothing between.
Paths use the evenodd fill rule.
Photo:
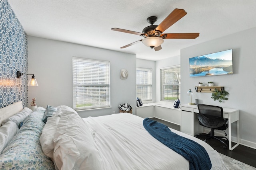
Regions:
<instances>
[{"instance_id":1,"label":"pale striped pillow against the headboard's far end, below the wall lamp","mask_svg":"<svg viewBox=\"0 0 256 170\"><path fill-rule=\"evenodd\" d=\"M4 123L6 123L8 121L13 121L14 123L16 123L17 126L19 126L20 122L23 121L25 119L25 117L27 117L32 112L33 111L30 108L24 107L24 109L22 109L21 111L19 111L15 115L12 115L11 117L5 119L2 122L2 125L4 125Z\"/></svg>"}]
</instances>

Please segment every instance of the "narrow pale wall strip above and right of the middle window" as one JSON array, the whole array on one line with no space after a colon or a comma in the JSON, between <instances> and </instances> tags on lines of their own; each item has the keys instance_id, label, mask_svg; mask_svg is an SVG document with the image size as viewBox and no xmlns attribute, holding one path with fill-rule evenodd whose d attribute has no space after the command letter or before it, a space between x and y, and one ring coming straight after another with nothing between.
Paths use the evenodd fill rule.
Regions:
<instances>
[{"instance_id":1,"label":"narrow pale wall strip above and right of the middle window","mask_svg":"<svg viewBox=\"0 0 256 170\"><path fill-rule=\"evenodd\" d=\"M136 66L140 68L151 68L152 69L152 101L143 101L143 103L152 103L156 101L156 81L155 81L155 61L137 59Z\"/></svg>"}]
</instances>

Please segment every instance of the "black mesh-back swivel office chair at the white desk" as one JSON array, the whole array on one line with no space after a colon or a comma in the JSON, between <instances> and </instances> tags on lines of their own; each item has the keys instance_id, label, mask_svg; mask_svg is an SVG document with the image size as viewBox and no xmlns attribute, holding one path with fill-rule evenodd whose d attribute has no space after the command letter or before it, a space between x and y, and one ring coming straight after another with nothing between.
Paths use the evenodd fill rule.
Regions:
<instances>
[{"instance_id":1,"label":"black mesh-back swivel office chair at the white desk","mask_svg":"<svg viewBox=\"0 0 256 170\"><path fill-rule=\"evenodd\" d=\"M198 135L207 135L208 137L204 140L206 142L208 139L214 138L221 143L223 143L225 146L224 149L228 148L228 139L223 136L214 136L214 129L218 130L226 130L228 128L228 119L223 118L223 109L219 106L211 106L211 105L205 105L205 104L198 104L198 121L199 124L211 128L210 133L198 133L195 135L195 137L198 137ZM226 135L226 133L225 133Z\"/></svg>"}]
</instances>

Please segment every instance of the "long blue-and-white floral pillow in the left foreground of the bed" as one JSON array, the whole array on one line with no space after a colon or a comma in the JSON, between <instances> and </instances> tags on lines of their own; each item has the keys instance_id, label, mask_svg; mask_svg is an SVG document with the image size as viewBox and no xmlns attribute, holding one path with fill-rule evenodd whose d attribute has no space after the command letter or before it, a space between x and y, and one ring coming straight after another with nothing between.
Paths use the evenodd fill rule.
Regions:
<instances>
[{"instance_id":1,"label":"long blue-and-white floral pillow in the left foreground of the bed","mask_svg":"<svg viewBox=\"0 0 256 170\"><path fill-rule=\"evenodd\" d=\"M44 111L43 107L38 107L24 119L22 127L0 155L1 170L54 169L52 160L44 154L39 141L44 127Z\"/></svg>"}]
</instances>

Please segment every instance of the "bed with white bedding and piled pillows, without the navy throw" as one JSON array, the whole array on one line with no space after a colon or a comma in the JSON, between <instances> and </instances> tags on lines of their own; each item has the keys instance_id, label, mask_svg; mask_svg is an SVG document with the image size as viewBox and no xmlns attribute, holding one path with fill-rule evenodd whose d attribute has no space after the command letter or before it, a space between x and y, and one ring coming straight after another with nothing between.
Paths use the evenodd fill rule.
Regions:
<instances>
[{"instance_id":1,"label":"bed with white bedding and piled pillows, without the navy throw","mask_svg":"<svg viewBox=\"0 0 256 170\"><path fill-rule=\"evenodd\" d=\"M10 112L9 121L1 120L5 122L0 127L3 170L190 169L189 161L150 135L143 126L144 119L136 115L81 118L68 106L38 107L31 111L26 107L20 110L20 104L8 107L18 107L13 110L19 113L26 109L27 115L21 122L11 119L17 113ZM1 110L1 116L8 117ZM218 152L207 143L170 130L202 145L209 155L211 170L227 169Z\"/></svg>"}]
</instances>

